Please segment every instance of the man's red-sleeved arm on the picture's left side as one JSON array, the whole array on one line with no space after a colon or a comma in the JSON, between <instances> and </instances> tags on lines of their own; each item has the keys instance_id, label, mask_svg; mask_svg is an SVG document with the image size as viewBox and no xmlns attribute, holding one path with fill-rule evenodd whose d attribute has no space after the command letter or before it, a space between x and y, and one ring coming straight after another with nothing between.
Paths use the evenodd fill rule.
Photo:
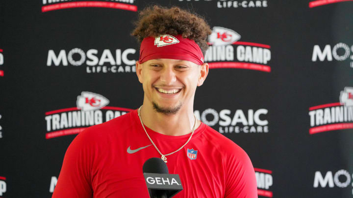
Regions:
<instances>
[{"instance_id":1,"label":"man's red-sleeved arm on the picture's left side","mask_svg":"<svg viewBox=\"0 0 353 198\"><path fill-rule=\"evenodd\" d=\"M66 151L52 198L92 198L89 163L92 156L84 132L76 136Z\"/></svg>"}]
</instances>

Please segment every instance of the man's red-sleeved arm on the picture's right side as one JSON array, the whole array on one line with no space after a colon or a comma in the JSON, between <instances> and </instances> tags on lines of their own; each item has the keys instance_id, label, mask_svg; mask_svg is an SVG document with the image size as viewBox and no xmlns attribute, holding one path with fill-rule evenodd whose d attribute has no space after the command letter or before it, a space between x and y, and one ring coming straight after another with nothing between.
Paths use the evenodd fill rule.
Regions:
<instances>
[{"instance_id":1,"label":"man's red-sleeved arm on the picture's right side","mask_svg":"<svg viewBox=\"0 0 353 198\"><path fill-rule=\"evenodd\" d=\"M240 147L228 158L225 198L257 198L255 171L248 154Z\"/></svg>"}]
</instances>

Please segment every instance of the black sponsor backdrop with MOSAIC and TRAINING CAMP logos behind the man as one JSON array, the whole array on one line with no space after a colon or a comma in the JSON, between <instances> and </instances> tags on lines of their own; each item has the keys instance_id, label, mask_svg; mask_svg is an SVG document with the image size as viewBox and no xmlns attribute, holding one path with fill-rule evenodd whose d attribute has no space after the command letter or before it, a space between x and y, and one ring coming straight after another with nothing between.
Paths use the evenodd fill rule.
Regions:
<instances>
[{"instance_id":1,"label":"black sponsor backdrop with MOSAIC and TRAINING CAMP logos behind the man","mask_svg":"<svg viewBox=\"0 0 353 198\"><path fill-rule=\"evenodd\" d=\"M77 133L140 107L129 34L153 3L209 22L195 115L260 198L353 198L352 0L2 0L0 198L50 198Z\"/></svg>"}]
</instances>

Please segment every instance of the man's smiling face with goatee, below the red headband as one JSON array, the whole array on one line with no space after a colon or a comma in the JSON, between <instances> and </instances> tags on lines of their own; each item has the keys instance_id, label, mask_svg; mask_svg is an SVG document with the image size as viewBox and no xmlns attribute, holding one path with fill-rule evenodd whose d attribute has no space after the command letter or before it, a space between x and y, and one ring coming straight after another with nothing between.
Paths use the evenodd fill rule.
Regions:
<instances>
[{"instance_id":1,"label":"man's smiling face with goatee, below the red headband","mask_svg":"<svg viewBox=\"0 0 353 198\"><path fill-rule=\"evenodd\" d=\"M175 114L193 105L195 90L208 73L208 65L175 59L153 59L136 63L136 73L143 84L145 98L157 112Z\"/></svg>"}]
</instances>

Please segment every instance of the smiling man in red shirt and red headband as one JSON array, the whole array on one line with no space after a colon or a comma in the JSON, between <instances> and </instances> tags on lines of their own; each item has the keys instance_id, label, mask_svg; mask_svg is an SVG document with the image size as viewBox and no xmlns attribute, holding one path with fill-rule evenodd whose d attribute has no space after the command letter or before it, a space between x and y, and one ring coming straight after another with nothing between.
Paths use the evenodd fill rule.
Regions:
<instances>
[{"instance_id":1,"label":"smiling man in red shirt and red headband","mask_svg":"<svg viewBox=\"0 0 353 198\"><path fill-rule=\"evenodd\" d=\"M184 190L175 198L256 198L248 155L197 120L194 96L208 74L202 18L180 8L149 7L132 33L143 105L88 128L69 146L53 198L148 198L144 162L162 158Z\"/></svg>"}]
</instances>

